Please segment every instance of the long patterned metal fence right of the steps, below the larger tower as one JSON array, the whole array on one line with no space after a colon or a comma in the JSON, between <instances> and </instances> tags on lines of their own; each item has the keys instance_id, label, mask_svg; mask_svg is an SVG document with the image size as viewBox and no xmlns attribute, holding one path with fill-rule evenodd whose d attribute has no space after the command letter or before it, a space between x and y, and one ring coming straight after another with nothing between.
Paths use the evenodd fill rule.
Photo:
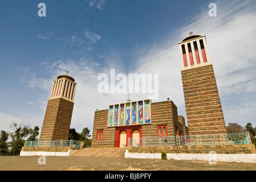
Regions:
<instances>
[{"instance_id":1,"label":"long patterned metal fence right of the steps, below the larger tower","mask_svg":"<svg viewBox=\"0 0 256 182\"><path fill-rule=\"evenodd\" d=\"M251 144L249 133L128 138L128 146Z\"/></svg>"}]
</instances>

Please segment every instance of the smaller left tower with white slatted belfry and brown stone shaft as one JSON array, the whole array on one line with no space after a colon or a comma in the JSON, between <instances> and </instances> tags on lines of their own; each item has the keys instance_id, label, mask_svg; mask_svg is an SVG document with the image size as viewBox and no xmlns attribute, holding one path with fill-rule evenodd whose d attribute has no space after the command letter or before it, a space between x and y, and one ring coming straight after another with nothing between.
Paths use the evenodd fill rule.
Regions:
<instances>
[{"instance_id":1,"label":"smaller left tower with white slatted belfry and brown stone shaft","mask_svg":"<svg viewBox=\"0 0 256 182\"><path fill-rule=\"evenodd\" d=\"M60 75L53 81L40 140L68 139L75 92L75 79L69 75Z\"/></svg>"}]
</instances>

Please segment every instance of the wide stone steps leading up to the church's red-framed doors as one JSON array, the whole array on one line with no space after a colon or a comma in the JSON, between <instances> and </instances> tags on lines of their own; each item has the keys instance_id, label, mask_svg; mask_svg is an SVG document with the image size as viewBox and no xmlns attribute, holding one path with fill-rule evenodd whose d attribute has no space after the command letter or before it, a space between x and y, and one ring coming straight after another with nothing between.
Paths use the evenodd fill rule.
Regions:
<instances>
[{"instance_id":1,"label":"wide stone steps leading up to the church's red-framed doors","mask_svg":"<svg viewBox=\"0 0 256 182\"><path fill-rule=\"evenodd\" d=\"M125 158L125 150L127 150L127 148L116 148L116 147L83 148L82 150L77 150L73 152L71 156Z\"/></svg>"}]
</instances>

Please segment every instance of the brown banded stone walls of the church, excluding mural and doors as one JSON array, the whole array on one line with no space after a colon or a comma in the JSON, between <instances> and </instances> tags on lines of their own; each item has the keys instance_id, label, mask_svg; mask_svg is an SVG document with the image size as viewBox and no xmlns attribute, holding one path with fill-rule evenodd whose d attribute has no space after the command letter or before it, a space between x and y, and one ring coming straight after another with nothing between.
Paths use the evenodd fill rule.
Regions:
<instances>
[{"instance_id":1,"label":"brown banded stone walls of the church, excluding mural and doors","mask_svg":"<svg viewBox=\"0 0 256 182\"><path fill-rule=\"evenodd\" d=\"M158 126L167 126L168 136L188 134L187 126L184 126L184 117L177 115L177 106L172 101L151 104L151 123L118 127L107 127L107 125L108 109L95 111L92 147L118 147L117 130L122 129L129 132L138 129L141 137L158 137ZM97 131L103 131L103 137L98 137Z\"/></svg>"}]
</instances>

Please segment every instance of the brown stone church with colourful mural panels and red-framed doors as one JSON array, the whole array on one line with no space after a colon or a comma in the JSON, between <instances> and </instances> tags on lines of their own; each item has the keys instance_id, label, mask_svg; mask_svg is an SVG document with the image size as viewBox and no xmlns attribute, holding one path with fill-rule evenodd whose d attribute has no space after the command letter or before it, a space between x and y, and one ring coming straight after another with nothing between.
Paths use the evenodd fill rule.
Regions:
<instances>
[{"instance_id":1,"label":"brown stone church with colourful mural panels and red-framed doors","mask_svg":"<svg viewBox=\"0 0 256 182\"><path fill-rule=\"evenodd\" d=\"M185 119L171 100L130 101L94 113L92 147L125 147L129 138L188 135Z\"/></svg>"}]
</instances>

